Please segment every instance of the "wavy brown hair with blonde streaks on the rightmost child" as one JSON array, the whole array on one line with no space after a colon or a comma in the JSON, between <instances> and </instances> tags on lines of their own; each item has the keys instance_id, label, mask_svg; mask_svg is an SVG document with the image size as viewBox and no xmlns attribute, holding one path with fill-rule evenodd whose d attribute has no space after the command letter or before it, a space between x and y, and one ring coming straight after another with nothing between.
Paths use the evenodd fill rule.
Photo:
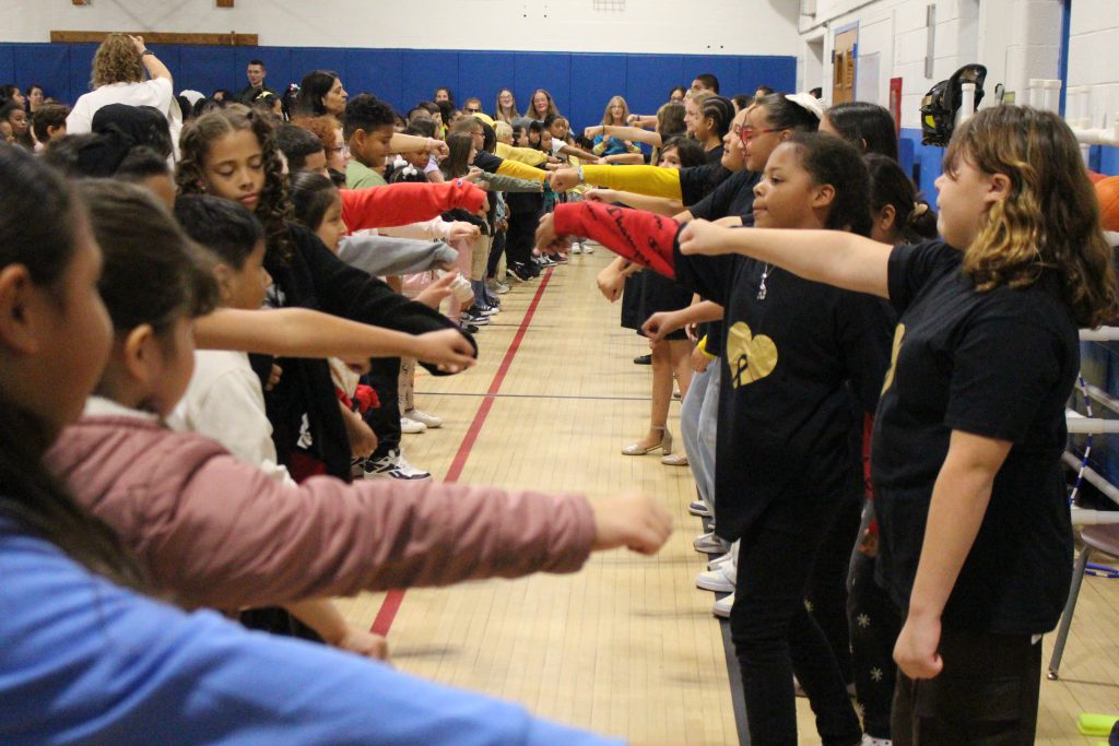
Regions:
<instances>
[{"instance_id":1,"label":"wavy brown hair with blonde streaks on the rightmost child","mask_svg":"<svg viewBox=\"0 0 1119 746\"><path fill-rule=\"evenodd\" d=\"M963 252L963 271L986 292L1025 287L1046 270L1062 280L1076 323L1098 327L1116 317L1116 274L1100 208L1069 126L1027 106L987 108L957 129L944 173L961 161L1005 174L1009 193L991 206Z\"/></svg>"}]
</instances>

